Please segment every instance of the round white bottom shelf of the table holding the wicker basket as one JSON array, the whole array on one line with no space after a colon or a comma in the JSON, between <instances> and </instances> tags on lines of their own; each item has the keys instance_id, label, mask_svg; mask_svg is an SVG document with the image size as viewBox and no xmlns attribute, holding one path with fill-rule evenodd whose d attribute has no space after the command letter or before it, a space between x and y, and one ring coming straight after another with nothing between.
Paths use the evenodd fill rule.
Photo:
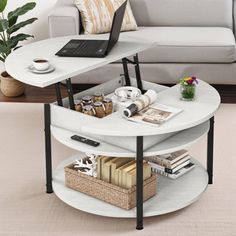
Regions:
<instances>
[{"instance_id":1,"label":"round white bottom shelf of the table holding the wicker basket","mask_svg":"<svg viewBox=\"0 0 236 236\"><path fill-rule=\"evenodd\" d=\"M123 210L64 185L64 166L72 163L82 154L63 161L53 172L54 193L71 207L95 215L136 218L136 208ZM195 168L176 180L159 176L157 194L143 204L144 217L162 215L182 209L196 200L206 190L208 174L205 168L194 160Z\"/></svg>"}]
</instances>

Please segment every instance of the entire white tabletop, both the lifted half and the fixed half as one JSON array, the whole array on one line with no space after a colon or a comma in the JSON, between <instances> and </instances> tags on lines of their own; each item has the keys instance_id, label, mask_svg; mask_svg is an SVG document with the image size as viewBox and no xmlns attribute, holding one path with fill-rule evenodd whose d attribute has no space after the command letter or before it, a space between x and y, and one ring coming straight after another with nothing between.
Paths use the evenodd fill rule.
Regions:
<instances>
[{"instance_id":1,"label":"entire white tabletop, both the lifted half and the fixed half","mask_svg":"<svg viewBox=\"0 0 236 236\"><path fill-rule=\"evenodd\" d=\"M55 53L70 39L88 38L88 36L67 36L35 42L11 53L5 63L7 72L15 79L26 84L45 87L63 81L80 73L104 66L123 57L141 52L152 45L122 38L105 58L68 58L58 57ZM100 39L106 35L92 36ZM91 38L91 36L90 36ZM35 58L47 58L56 70L49 74L33 74L28 70ZM197 96L193 102L179 99L179 85L158 93L157 102L181 108L183 111L159 127L127 122L118 112L99 122L88 122L81 131L88 134L106 136L148 136L184 130L199 125L212 116L220 105L218 92L204 81L197 85Z\"/></svg>"}]
</instances>

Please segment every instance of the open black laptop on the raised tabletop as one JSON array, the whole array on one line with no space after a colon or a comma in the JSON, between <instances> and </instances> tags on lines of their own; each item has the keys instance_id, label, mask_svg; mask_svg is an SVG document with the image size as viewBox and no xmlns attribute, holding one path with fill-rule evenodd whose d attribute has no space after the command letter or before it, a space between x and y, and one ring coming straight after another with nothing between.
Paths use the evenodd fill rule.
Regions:
<instances>
[{"instance_id":1,"label":"open black laptop on the raised tabletop","mask_svg":"<svg viewBox=\"0 0 236 236\"><path fill-rule=\"evenodd\" d=\"M114 13L109 40L70 40L56 55L60 57L105 57L119 39L127 1Z\"/></svg>"}]
</instances>

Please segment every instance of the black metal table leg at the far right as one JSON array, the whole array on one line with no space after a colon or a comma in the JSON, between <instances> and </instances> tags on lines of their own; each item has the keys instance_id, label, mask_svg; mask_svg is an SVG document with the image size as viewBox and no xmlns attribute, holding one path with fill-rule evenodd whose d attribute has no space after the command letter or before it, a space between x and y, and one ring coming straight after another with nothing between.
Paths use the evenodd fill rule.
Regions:
<instances>
[{"instance_id":1,"label":"black metal table leg at the far right","mask_svg":"<svg viewBox=\"0 0 236 236\"><path fill-rule=\"evenodd\" d=\"M209 184L213 183L213 155L214 155L214 116L210 119L210 130L207 137L207 172Z\"/></svg>"}]
</instances>

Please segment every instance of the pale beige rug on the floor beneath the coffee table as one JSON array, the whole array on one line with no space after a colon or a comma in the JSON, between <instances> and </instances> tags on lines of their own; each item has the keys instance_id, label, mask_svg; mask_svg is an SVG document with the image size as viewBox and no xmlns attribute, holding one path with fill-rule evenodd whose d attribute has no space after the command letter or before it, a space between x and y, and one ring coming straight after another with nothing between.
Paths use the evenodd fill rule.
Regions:
<instances>
[{"instance_id":1,"label":"pale beige rug on the floor beneath the coffee table","mask_svg":"<svg viewBox=\"0 0 236 236\"><path fill-rule=\"evenodd\" d=\"M235 236L236 105L222 104L215 118L214 184L180 211L135 220L73 209L45 193L43 105L0 103L0 236ZM206 139L190 148L205 165ZM53 166L75 151L53 140ZM170 193L172 194L172 193Z\"/></svg>"}]
</instances>

